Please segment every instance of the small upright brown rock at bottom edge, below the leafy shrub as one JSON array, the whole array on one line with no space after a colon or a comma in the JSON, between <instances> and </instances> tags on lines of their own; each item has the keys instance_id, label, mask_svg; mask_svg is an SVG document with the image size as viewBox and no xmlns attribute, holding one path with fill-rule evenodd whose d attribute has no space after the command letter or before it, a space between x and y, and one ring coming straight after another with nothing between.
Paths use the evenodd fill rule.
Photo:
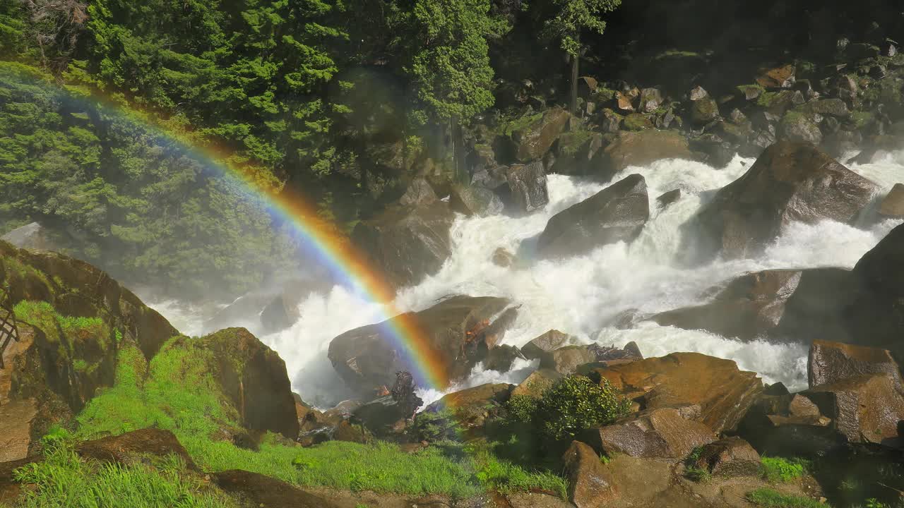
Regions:
<instances>
[{"instance_id":1,"label":"small upright brown rock at bottom edge, below the leafy shrub","mask_svg":"<svg viewBox=\"0 0 904 508\"><path fill-rule=\"evenodd\" d=\"M580 441L571 441L562 462L568 478L569 500L577 508L597 508L614 497L606 469L593 448Z\"/></svg>"}]
</instances>

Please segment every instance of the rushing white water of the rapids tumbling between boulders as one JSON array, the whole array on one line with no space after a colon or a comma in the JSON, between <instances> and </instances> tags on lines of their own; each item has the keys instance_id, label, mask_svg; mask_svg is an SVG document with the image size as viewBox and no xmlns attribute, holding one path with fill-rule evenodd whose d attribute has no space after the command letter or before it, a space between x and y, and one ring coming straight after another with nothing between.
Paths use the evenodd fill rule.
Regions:
<instances>
[{"instance_id":1,"label":"rushing white water of the rapids tumbling between boulders","mask_svg":"<svg viewBox=\"0 0 904 508\"><path fill-rule=\"evenodd\" d=\"M627 309L658 312L704 301L704 291L750 270L767 268L852 268L858 259L899 221L864 222L859 228L825 221L793 224L757 259L716 259L688 264L693 258L693 231L686 227L705 202L724 185L747 171L753 159L736 157L725 169L714 169L684 160L664 160L645 167L631 167L616 175L643 174L651 199L651 217L639 238L617 243L588 255L560 260L533 256L537 236L550 217L588 198L606 184L557 174L549 176L550 203L523 217L458 217L452 228L453 253L438 274L416 287L400 291L401 310L419 310L452 294L505 296L520 304L518 318L505 334L504 343L523 345L550 330L579 336L586 342L624 345L635 341L645 356L677 351L711 354L738 362L744 370L758 372L764 381L783 381L791 389L805 387L806 348L800 344L742 343L702 331L687 331L653 323L634 329L607 326ZM880 155L869 165L852 165L881 188L879 195L904 181L904 151ZM662 211L655 197L681 189L678 202ZM512 268L491 262L497 248L515 253ZM326 295L313 295L300 304L300 319L291 328L263 337L287 362L295 390L315 405L329 406L347 392L326 358L331 339L357 326L381 318L377 306L334 287ZM519 382L533 365L516 364L512 372L485 371L478 365L470 379L454 388L490 381ZM441 394L423 390L435 400Z\"/></svg>"}]
</instances>

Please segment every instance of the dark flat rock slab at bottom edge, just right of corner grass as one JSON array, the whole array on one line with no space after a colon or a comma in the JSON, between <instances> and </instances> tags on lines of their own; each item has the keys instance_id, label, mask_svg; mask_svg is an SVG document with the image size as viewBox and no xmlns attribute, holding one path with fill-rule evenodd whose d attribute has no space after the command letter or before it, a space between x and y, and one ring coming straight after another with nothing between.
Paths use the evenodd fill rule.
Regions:
<instances>
[{"instance_id":1,"label":"dark flat rock slab at bottom edge, just right of corner grass","mask_svg":"<svg viewBox=\"0 0 904 508\"><path fill-rule=\"evenodd\" d=\"M231 469L213 473L212 481L223 491L238 495L252 506L261 508L337 508L337 505L315 494L309 494L276 478Z\"/></svg>"}]
</instances>

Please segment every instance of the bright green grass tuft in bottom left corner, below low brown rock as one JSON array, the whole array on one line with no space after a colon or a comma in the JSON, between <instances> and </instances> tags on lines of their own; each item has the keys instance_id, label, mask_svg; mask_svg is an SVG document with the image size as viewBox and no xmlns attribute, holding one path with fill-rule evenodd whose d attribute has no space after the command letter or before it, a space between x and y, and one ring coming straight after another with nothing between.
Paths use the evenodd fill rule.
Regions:
<instances>
[{"instance_id":1,"label":"bright green grass tuft in bottom left corner, below low brown rock","mask_svg":"<svg viewBox=\"0 0 904 508\"><path fill-rule=\"evenodd\" d=\"M185 471L175 456L131 465L106 464L78 456L71 446L45 450L42 462L14 471L24 489L23 508L231 508L238 505Z\"/></svg>"}]
</instances>

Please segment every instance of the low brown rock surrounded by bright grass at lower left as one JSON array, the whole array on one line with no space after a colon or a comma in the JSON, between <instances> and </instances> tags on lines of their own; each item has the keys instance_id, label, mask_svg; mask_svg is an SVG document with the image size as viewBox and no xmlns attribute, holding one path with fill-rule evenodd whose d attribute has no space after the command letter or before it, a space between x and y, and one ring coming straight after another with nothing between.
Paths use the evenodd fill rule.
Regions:
<instances>
[{"instance_id":1,"label":"low brown rock surrounded by bright grass at lower left","mask_svg":"<svg viewBox=\"0 0 904 508\"><path fill-rule=\"evenodd\" d=\"M85 441L76 448L80 456L100 462L129 464L141 461L145 456L178 456L189 469L198 470L192 457L169 430L143 428L119 436L108 436Z\"/></svg>"}]
</instances>

